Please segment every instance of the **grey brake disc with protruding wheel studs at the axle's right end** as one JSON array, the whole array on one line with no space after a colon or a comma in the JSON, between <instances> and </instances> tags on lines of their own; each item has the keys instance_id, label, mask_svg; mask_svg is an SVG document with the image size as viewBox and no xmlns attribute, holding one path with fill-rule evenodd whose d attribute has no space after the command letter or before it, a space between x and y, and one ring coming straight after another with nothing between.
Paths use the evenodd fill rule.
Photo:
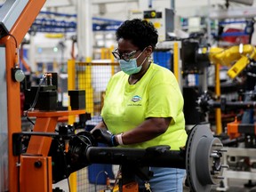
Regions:
<instances>
[{"instance_id":1,"label":"grey brake disc with protruding wheel studs at the axle's right end","mask_svg":"<svg viewBox=\"0 0 256 192\"><path fill-rule=\"evenodd\" d=\"M204 124L194 127L186 145L186 170L190 191L210 191L222 179L222 144Z\"/></svg>"}]
</instances>

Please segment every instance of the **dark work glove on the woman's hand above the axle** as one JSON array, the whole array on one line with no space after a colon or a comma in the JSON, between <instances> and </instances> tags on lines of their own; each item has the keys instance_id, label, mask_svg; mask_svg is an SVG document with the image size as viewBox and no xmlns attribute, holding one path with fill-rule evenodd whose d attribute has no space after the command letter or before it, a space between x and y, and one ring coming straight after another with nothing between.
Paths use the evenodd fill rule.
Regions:
<instances>
[{"instance_id":1,"label":"dark work glove on the woman's hand above the axle","mask_svg":"<svg viewBox=\"0 0 256 192\"><path fill-rule=\"evenodd\" d=\"M118 143L115 138L115 134L112 134L105 128L99 128L95 129L92 132L92 136L97 140L98 142L105 143L110 147L116 147L118 146Z\"/></svg>"}]
</instances>

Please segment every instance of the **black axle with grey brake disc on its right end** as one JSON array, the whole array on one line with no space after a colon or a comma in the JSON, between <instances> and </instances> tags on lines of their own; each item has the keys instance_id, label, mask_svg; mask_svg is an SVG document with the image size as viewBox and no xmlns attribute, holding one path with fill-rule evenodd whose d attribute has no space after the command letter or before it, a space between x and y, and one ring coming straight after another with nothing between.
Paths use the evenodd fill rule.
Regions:
<instances>
[{"instance_id":1,"label":"black axle with grey brake disc on its right end","mask_svg":"<svg viewBox=\"0 0 256 192\"><path fill-rule=\"evenodd\" d=\"M84 133L79 136L84 137L84 141L75 138L76 141L69 142L70 156L77 157L73 158L72 164L122 164L122 167L136 167L132 170L133 174L147 166L186 168L192 192L210 191L212 185L219 184L223 179L222 169L228 167L223 164L222 153L225 150L220 140L214 138L204 124L196 125L189 132L186 148L180 150L170 150L168 146L146 149L93 147L88 141L94 143L95 140L88 137L88 133L83 136Z\"/></svg>"}]
</instances>

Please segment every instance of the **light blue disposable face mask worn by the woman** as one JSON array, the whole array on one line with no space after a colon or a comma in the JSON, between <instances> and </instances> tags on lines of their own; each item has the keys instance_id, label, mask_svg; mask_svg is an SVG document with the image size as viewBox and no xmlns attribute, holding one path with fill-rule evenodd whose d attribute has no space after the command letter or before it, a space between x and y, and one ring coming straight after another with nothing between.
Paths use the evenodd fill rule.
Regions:
<instances>
[{"instance_id":1,"label":"light blue disposable face mask worn by the woman","mask_svg":"<svg viewBox=\"0 0 256 192\"><path fill-rule=\"evenodd\" d=\"M143 52L144 52L144 50L143 50ZM141 53L142 52L140 52L140 55L141 55ZM147 57L146 57L145 60L142 61L141 65L138 67L137 59L140 57L140 55L137 58L130 59L129 61L119 60L120 68L122 69L122 71L124 71L125 74L130 76L132 74L136 74L136 73L140 72L143 63L147 59Z\"/></svg>"}]
</instances>

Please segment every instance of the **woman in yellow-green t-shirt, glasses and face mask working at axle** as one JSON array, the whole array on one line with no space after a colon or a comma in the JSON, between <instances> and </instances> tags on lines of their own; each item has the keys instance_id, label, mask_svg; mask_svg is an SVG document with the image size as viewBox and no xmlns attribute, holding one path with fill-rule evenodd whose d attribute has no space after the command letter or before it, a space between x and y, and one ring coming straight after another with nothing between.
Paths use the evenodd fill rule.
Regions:
<instances>
[{"instance_id":1,"label":"woman in yellow-green t-shirt, glasses and face mask working at axle","mask_svg":"<svg viewBox=\"0 0 256 192\"><path fill-rule=\"evenodd\" d=\"M117 49L113 52L122 71L108 82L103 121L92 134L109 146L148 148L185 146L187 133L183 98L172 72L152 63L156 48L156 28L147 20L126 20L116 30ZM108 131L107 131L108 130ZM150 167L152 191L182 191L185 170Z\"/></svg>"}]
</instances>

